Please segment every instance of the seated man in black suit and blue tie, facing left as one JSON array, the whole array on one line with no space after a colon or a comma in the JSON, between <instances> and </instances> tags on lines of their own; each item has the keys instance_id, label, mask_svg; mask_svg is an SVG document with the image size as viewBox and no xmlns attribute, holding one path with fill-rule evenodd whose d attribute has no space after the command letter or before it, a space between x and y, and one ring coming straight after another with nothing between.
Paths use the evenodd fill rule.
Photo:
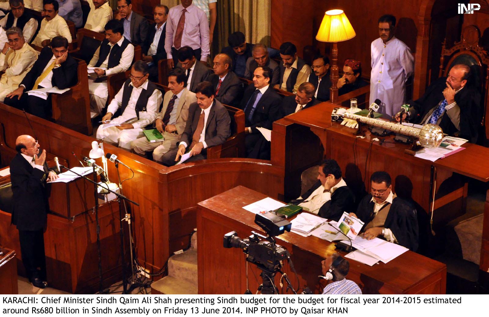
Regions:
<instances>
[{"instance_id":1,"label":"seated man in black suit and blue tie, facing left","mask_svg":"<svg viewBox=\"0 0 489 317\"><path fill-rule=\"evenodd\" d=\"M270 87L272 70L267 66L257 67L253 84L244 90L240 108L244 110L244 143L248 158L270 159L270 142L257 127L272 129L272 123L284 116L282 97Z\"/></svg>"}]
</instances>

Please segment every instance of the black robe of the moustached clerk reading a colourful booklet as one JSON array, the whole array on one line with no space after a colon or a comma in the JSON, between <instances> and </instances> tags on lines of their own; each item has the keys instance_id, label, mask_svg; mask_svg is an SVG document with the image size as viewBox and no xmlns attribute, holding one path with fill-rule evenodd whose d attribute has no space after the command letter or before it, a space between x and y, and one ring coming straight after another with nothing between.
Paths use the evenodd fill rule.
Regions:
<instances>
[{"instance_id":1,"label":"black robe of the moustached clerk reading a colourful booklet","mask_svg":"<svg viewBox=\"0 0 489 317\"><path fill-rule=\"evenodd\" d=\"M371 200L372 195L367 194L358 204L356 211L356 215L365 226L374 219L374 202ZM384 228L392 231L401 246L411 251L418 249L419 229L416 209L404 199L394 198Z\"/></svg>"}]
</instances>

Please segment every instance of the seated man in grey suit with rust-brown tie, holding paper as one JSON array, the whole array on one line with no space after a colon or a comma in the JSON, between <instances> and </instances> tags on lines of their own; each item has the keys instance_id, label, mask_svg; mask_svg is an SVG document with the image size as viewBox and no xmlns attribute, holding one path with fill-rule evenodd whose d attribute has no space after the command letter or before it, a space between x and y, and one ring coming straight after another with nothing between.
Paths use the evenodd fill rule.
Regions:
<instances>
[{"instance_id":1,"label":"seated man in grey suit with rust-brown tie, holding paper","mask_svg":"<svg viewBox=\"0 0 489 317\"><path fill-rule=\"evenodd\" d=\"M190 105L188 119L178 148L163 155L163 164L172 166L190 150L185 162L204 160L207 148L223 144L231 135L231 118L226 107L215 100L214 87L209 82L197 85L197 102Z\"/></svg>"}]
</instances>

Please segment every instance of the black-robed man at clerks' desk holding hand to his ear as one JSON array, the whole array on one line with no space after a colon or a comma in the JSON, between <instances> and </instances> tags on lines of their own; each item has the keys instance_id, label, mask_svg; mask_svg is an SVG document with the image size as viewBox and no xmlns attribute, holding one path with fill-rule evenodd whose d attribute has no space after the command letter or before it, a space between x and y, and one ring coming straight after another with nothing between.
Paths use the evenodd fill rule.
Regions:
<instances>
[{"instance_id":1,"label":"black-robed man at clerks' desk holding hand to his ear","mask_svg":"<svg viewBox=\"0 0 489 317\"><path fill-rule=\"evenodd\" d=\"M291 202L334 221L341 218L343 211L355 210L355 195L341 177L341 169L335 160L321 162L317 182L302 197Z\"/></svg>"}]
</instances>

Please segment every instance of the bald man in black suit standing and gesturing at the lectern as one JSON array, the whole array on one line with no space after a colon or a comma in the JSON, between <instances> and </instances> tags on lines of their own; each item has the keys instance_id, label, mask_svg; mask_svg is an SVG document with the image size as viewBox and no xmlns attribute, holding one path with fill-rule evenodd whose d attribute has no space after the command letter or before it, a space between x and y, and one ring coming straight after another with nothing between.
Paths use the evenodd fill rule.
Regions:
<instances>
[{"instance_id":1,"label":"bald man in black suit standing and gesturing at the lectern","mask_svg":"<svg viewBox=\"0 0 489 317\"><path fill-rule=\"evenodd\" d=\"M46 165L46 150L30 135L21 135L15 141L17 155L10 162L13 211L12 224L19 230L22 263L29 281L45 288L46 260L44 255L44 227L49 210L46 180L58 178Z\"/></svg>"}]
</instances>

